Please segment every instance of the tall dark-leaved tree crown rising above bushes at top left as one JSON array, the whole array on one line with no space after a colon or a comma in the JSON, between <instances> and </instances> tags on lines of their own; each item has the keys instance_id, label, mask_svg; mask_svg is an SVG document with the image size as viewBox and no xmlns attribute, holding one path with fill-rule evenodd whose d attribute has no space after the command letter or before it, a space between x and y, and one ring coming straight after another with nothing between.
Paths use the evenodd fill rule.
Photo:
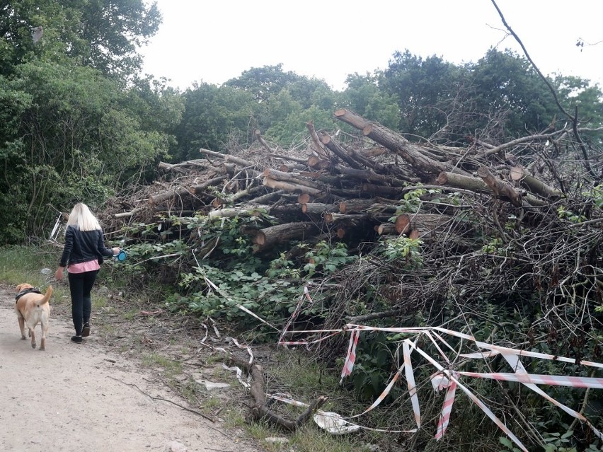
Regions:
<instances>
[{"instance_id":1,"label":"tall dark-leaved tree crown rising above bushes at top left","mask_svg":"<svg viewBox=\"0 0 603 452\"><path fill-rule=\"evenodd\" d=\"M64 57L126 79L137 53L159 29L156 2L143 0L11 0L0 4L0 74L33 58Z\"/></svg>"}]
</instances>

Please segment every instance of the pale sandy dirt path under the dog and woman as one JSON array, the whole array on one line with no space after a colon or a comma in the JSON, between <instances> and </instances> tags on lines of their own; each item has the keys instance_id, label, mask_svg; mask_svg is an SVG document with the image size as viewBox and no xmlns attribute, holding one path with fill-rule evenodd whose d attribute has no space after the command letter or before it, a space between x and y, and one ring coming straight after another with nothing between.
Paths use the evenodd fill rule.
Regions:
<instances>
[{"instance_id":1,"label":"pale sandy dirt path under the dog and woman","mask_svg":"<svg viewBox=\"0 0 603 452\"><path fill-rule=\"evenodd\" d=\"M13 296L0 286L0 451L260 451L240 432L154 399L185 403L94 335L71 342L64 314L51 311L46 351L33 350Z\"/></svg>"}]
</instances>

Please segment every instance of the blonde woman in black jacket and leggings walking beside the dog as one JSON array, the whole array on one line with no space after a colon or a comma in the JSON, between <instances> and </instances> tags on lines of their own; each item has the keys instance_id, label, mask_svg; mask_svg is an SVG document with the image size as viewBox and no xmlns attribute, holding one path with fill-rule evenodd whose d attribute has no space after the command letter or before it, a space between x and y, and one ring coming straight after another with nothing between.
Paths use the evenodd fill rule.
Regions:
<instances>
[{"instance_id":1,"label":"blonde woman in black jacket and leggings walking beside the dog","mask_svg":"<svg viewBox=\"0 0 603 452\"><path fill-rule=\"evenodd\" d=\"M120 253L120 248L105 248L103 230L96 216L86 204L79 202L71 210L65 231L65 245L59 268L54 272L57 280L63 279L67 268L69 292L71 293L71 317L76 335L71 340L82 342L82 337L90 335L90 315L92 301L90 293L101 268L103 256Z\"/></svg>"}]
</instances>

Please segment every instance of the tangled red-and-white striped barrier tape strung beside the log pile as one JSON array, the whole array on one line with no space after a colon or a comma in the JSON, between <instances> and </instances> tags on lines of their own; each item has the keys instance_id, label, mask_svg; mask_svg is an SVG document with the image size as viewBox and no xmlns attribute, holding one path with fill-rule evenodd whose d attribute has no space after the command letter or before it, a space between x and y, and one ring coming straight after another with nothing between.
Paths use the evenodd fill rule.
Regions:
<instances>
[{"instance_id":1,"label":"tangled red-and-white striped barrier tape strung beside the log pile","mask_svg":"<svg viewBox=\"0 0 603 452\"><path fill-rule=\"evenodd\" d=\"M310 299L309 295L308 295L308 299ZM265 320L259 318L257 315L255 315L248 309L243 308L243 306L239 306L239 307L243 311L246 311L250 315L253 315L253 317L258 318L258 320L261 320L263 323L267 323L267 322L265 322ZM296 312L300 308L301 308L301 301L300 301L300 303L298 303ZM297 316L296 312L294 312L294 315ZM289 323L287 323L287 325L290 325L291 322L292 322L292 320L290 320ZM267 323L267 324L270 325L269 323ZM270 325L270 326L272 328L275 328L272 325ZM452 412L452 406L454 405L454 397L456 395L456 388L459 388L461 391L463 391L469 397L469 399L473 403L475 403L478 407L480 407L480 409L484 413L486 413L486 415L498 426L498 428L500 430L502 430L503 432L505 432L505 434L515 444L517 444L517 446L519 446L519 448L521 448L522 451L527 452L527 448L525 448L525 446L522 444L521 441L519 441L517 436L515 436L515 434L513 434L512 431L510 431L510 429L505 425L505 423L502 422L500 419L498 419L498 417L496 417L496 415L492 412L492 410L490 410L490 408L488 408L488 406L480 398L478 398L476 395L474 395L471 392L471 390L469 390L469 388L467 388L466 386L464 386L461 383L461 381L460 381L461 376L471 377L471 378L489 378L489 379L494 379L494 380L498 380L498 381L513 381L513 382L517 382L517 383L522 383L524 386L527 386L527 388L533 390L537 394L544 397L546 400L549 400L549 402L553 403L553 405L560 407L561 410L568 413L568 415L571 415L571 416L575 417L576 419L579 419L581 422L584 422L585 424L587 424L592 429L592 431L595 432L595 434L599 437L599 439L603 440L603 435L601 434L601 432L599 432L595 428L595 426L593 426L592 423L590 423L586 419L585 416L580 415L580 413L576 412L575 410L572 410L570 407L563 405L561 402L554 400L553 398L551 398L551 396L547 395L543 390L541 390L538 386L536 386L536 385L547 385L547 386L568 386L571 388L603 389L603 378L529 374L529 373L527 373L523 364L521 363L520 358L521 357L530 357L530 358L537 358L537 359L546 359L546 360L551 360L551 361L565 362L565 363L569 363L569 364L576 364L576 365L580 364L582 366L590 366L590 367L594 367L596 369L603 369L603 364L597 363L595 361L584 361L584 360L576 361L575 359L572 359L572 358L558 357L558 356L553 356L551 354L544 354L544 353L539 353L539 352L529 352L526 350L516 350L516 349L509 348L509 347L500 347L495 344L488 344L486 342L478 341L478 340L476 340L475 337L473 337L471 335L467 335L465 333L457 332L454 330L448 330L447 328L441 328L441 327L378 328L378 327L369 327L366 325L348 324L348 325L345 325L345 328L342 328L340 330L304 330L304 331L296 331L295 332L296 334L306 333L306 334L321 335L321 337L319 337L318 339L311 340L311 341L304 341L304 340L287 341L287 340L284 340L283 337L285 335L291 333L291 332L287 331L287 329L285 329L282 332L282 335L280 336L279 344L309 345L309 344L321 342L322 340L326 340L328 337L333 337L333 336L341 334L341 333L350 332L350 343L348 344L348 353L346 354L345 361L343 364L343 369L341 371L341 380L340 380L340 382L341 382L341 381L343 381L343 378L345 378L346 376L350 376L350 374L352 373L352 370L354 369L354 364L356 361L356 347L358 344L358 339L360 337L360 332L362 332L362 331L406 333L406 334L417 335L417 337L425 336L425 337L427 337L429 342L432 345L434 345L435 349L437 349L438 354L440 355L441 359L445 362L447 367L444 368L444 366L442 366L440 363L435 361L435 359L433 359L430 356L430 354L427 354L427 352L425 352L423 349L418 347L416 338L415 338L414 342L409 339L404 339L402 341L403 365L396 371L396 373L391 378L391 380L389 381L389 383L386 386L386 388L384 389L384 391L379 395L377 400L375 400L372 403L372 405L367 408L367 410L364 410L364 412L360 413L360 415L355 415L348 419L352 419L353 417L360 417L361 415L364 415L365 413L369 412L370 410L373 410L374 407L377 407L384 400L384 398L386 398L386 396L389 394L391 388L394 386L394 383L396 383L396 381L398 381L398 378L401 376L402 371L404 371L404 375L406 376L406 382L408 384L408 394L409 394L410 400L412 402L413 413L415 415L415 421L417 423L417 429L406 430L406 432L412 433L412 432L417 431L421 425L420 406L419 406L418 397L417 397L417 387L416 387L415 380L414 380L412 362L410 361L410 354L412 354L413 351L416 351L421 356L423 356L430 364L432 364L432 366L434 366L437 369L437 373L435 373L432 376L432 384L434 385L434 388L440 389L440 390L446 388L446 395L444 396L444 404L442 406L442 412L440 414L440 419L439 419L439 422L437 425L437 431L435 434L435 438L437 440L442 439L442 436L444 435L444 433L448 427L450 413ZM328 334L326 334L326 333L328 333ZM476 347L478 347L480 349L484 349L484 351L461 354L461 353L457 352L453 347L451 347L450 344L446 340L444 340L444 337L443 337L444 335L449 335L449 336L456 337L461 340L466 340L466 341L472 342L473 344L475 344ZM468 372L468 371L454 371L452 369L449 369L452 366L451 363L454 363L454 359L451 361L451 359L449 359L447 357L447 354L444 353L442 347L440 347L440 344L442 344L450 352L454 353L455 358L460 357L460 358L465 358L465 359L487 359L489 357L494 357L494 356L500 354L504 357L504 359L507 361L507 363L510 364L513 372L512 373L505 373L505 372L479 373L479 372ZM327 415L336 415L335 413L326 413L326 414ZM343 418L341 418L341 419L343 419ZM355 424L351 424L350 422L347 422L345 420L341 420L340 423L342 423L342 422L343 422L343 424L345 424L348 427L350 425L352 425L352 426L355 425ZM361 428L364 429L366 427L361 427ZM381 429L374 429L374 430L375 431L391 431L391 430L381 430Z\"/></svg>"}]
</instances>

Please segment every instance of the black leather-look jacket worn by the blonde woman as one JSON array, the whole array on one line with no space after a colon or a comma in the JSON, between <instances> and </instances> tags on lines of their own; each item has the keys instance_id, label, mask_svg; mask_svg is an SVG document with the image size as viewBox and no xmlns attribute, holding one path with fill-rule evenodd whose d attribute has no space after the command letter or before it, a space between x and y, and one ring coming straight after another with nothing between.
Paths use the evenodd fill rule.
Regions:
<instances>
[{"instance_id":1,"label":"black leather-look jacket worn by the blonde woman","mask_svg":"<svg viewBox=\"0 0 603 452\"><path fill-rule=\"evenodd\" d=\"M89 260L103 262L103 256L113 256L113 250L105 248L103 231L80 231L77 226L67 226L65 245L59 265L67 267L69 264L79 264Z\"/></svg>"}]
</instances>

